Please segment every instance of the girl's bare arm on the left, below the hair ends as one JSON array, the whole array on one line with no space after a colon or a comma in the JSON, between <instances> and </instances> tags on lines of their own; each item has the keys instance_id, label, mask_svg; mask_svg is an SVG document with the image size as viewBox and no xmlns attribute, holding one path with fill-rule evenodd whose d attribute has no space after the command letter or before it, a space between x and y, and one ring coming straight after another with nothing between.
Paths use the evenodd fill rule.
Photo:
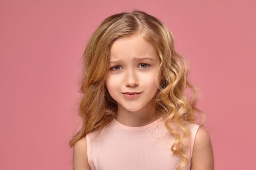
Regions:
<instances>
[{"instance_id":1,"label":"girl's bare arm on the left, below the hair ends","mask_svg":"<svg viewBox=\"0 0 256 170\"><path fill-rule=\"evenodd\" d=\"M91 170L87 159L86 136L77 141L74 146L73 170Z\"/></svg>"}]
</instances>

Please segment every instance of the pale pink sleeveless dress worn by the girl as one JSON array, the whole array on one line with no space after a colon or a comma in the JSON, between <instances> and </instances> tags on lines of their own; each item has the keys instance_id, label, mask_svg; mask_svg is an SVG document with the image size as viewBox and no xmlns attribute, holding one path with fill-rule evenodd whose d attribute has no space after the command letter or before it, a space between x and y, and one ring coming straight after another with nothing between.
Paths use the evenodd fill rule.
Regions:
<instances>
[{"instance_id":1,"label":"pale pink sleeveless dress worn by the girl","mask_svg":"<svg viewBox=\"0 0 256 170\"><path fill-rule=\"evenodd\" d=\"M86 134L87 157L91 170L176 170L180 158L171 151L174 137L159 119L139 127L126 126L113 119L99 135ZM190 170L191 156L198 124L185 121L191 131L185 152ZM171 124L174 128L175 125Z\"/></svg>"}]
</instances>

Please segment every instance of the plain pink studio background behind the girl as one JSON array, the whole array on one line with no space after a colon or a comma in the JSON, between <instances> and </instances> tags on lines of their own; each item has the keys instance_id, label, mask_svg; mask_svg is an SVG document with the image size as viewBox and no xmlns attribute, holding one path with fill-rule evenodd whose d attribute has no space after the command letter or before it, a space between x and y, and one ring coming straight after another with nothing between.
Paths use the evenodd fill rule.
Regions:
<instances>
[{"instance_id":1,"label":"plain pink studio background behind the girl","mask_svg":"<svg viewBox=\"0 0 256 170\"><path fill-rule=\"evenodd\" d=\"M255 0L1 0L0 170L72 169L80 57L104 18L132 9L189 61L216 170L255 168Z\"/></svg>"}]
</instances>

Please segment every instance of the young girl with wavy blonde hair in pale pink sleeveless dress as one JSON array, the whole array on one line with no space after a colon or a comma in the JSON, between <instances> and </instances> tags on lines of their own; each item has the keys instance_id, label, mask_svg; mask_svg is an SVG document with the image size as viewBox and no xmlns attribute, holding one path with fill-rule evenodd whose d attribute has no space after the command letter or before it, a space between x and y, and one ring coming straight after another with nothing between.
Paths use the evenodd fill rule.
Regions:
<instances>
[{"instance_id":1,"label":"young girl with wavy blonde hair in pale pink sleeveless dress","mask_svg":"<svg viewBox=\"0 0 256 170\"><path fill-rule=\"evenodd\" d=\"M196 111L205 119L196 88L159 19L138 10L107 17L83 56L73 170L214 170L210 136L195 123Z\"/></svg>"}]
</instances>

